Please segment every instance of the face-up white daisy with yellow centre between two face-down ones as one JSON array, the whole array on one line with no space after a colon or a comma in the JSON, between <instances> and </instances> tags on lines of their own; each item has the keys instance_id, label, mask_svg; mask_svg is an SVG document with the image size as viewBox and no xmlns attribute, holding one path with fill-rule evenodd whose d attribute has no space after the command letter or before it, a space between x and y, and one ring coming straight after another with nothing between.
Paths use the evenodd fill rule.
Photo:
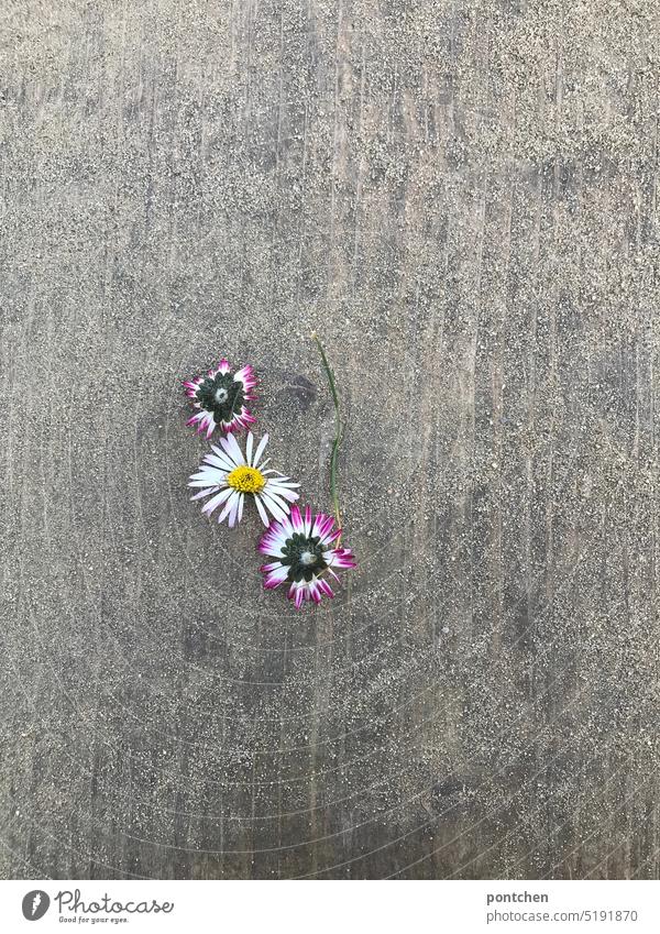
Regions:
<instances>
[{"instance_id":1,"label":"face-up white daisy with yellow centre between two face-down ones","mask_svg":"<svg viewBox=\"0 0 660 934\"><path fill-rule=\"evenodd\" d=\"M245 454L233 435L220 438L222 450L211 444L213 453L205 457L199 472L194 473L188 483L188 486L201 487L193 499L215 494L201 507L202 513L210 516L218 506L223 505L224 508L218 516L218 521L228 519L229 527L233 528L243 516L245 496L252 496L265 526L270 523L268 513L276 519L286 519L288 504L294 503L300 495L295 492L295 487L300 484L292 483L288 476L284 476L276 470L264 470L271 460L270 458L265 461L261 460L267 443L268 436L264 435L254 457L252 457L254 446L252 431L248 432Z\"/></svg>"}]
</instances>

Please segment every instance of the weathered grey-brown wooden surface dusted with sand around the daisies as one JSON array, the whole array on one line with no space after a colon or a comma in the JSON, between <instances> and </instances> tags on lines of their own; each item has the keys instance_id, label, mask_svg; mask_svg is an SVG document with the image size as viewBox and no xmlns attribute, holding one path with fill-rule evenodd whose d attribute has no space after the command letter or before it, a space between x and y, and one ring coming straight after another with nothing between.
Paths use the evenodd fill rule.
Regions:
<instances>
[{"instance_id":1,"label":"weathered grey-brown wooden surface dusted with sand around the daisies","mask_svg":"<svg viewBox=\"0 0 660 934\"><path fill-rule=\"evenodd\" d=\"M2 877L654 878L660 6L10 0ZM252 362L332 605L185 487Z\"/></svg>"}]
</instances>

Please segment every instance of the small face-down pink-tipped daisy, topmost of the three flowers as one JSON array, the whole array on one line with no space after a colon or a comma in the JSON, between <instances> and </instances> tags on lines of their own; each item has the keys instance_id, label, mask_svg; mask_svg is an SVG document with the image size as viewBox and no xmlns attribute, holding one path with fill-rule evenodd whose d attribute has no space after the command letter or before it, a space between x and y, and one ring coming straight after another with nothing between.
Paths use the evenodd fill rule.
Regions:
<instances>
[{"instance_id":1,"label":"small face-down pink-tipped daisy, topmost of the three flowers","mask_svg":"<svg viewBox=\"0 0 660 934\"><path fill-rule=\"evenodd\" d=\"M210 438L219 428L229 435L256 421L245 406L254 399L252 391L256 386L256 376L250 365L232 373L228 361L221 360L205 376L185 380L184 386L186 395L199 409L186 421L186 425L197 426L197 433L206 431L206 437Z\"/></svg>"}]
</instances>

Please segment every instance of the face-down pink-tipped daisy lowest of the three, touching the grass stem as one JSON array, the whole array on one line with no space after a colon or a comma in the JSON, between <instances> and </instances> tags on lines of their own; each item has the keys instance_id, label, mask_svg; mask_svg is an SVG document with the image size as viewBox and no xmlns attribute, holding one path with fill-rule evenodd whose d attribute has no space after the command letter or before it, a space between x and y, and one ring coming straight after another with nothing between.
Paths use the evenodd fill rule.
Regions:
<instances>
[{"instance_id":1,"label":"face-down pink-tipped daisy lowest of the three, touching the grass stem","mask_svg":"<svg viewBox=\"0 0 660 934\"><path fill-rule=\"evenodd\" d=\"M355 568L350 548L332 548L340 536L332 516L319 513L312 518L307 506L302 517L300 509L293 506L290 516L272 523L258 543L262 554L277 559L261 569L264 587L272 590L288 583L287 596L296 609L306 600L320 603L322 594L334 596L324 575L331 574L338 581L334 568Z\"/></svg>"}]
</instances>

